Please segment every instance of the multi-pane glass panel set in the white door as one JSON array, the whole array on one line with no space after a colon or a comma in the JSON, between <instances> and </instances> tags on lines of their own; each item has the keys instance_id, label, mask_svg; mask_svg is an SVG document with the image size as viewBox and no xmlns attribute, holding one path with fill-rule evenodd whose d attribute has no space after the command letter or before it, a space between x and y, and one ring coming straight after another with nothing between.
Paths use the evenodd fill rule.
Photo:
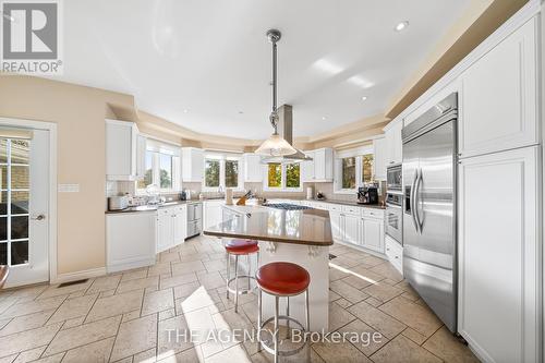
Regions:
<instances>
[{"instance_id":1,"label":"multi-pane glass panel set in the white door","mask_svg":"<svg viewBox=\"0 0 545 363\"><path fill-rule=\"evenodd\" d=\"M0 138L0 264L28 263L31 142Z\"/></svg>"}]
</instances>

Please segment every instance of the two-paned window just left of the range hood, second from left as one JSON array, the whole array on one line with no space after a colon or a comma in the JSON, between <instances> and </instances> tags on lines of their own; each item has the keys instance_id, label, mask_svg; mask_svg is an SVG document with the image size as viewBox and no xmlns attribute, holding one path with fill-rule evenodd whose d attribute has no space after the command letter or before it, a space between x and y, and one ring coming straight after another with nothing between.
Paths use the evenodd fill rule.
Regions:
<instances>
[{"instance_id":1,"label":"two-paned window just left of the range hood, second from left","mask_svg":"<svg viewBox=\"0 0 545 363\"><path fill-rule=\"evenodd\" d=\"M240 158L222 154L205 156L203 190L217 191L219 187L242 187Z\"/></svg>"}]
</instances>

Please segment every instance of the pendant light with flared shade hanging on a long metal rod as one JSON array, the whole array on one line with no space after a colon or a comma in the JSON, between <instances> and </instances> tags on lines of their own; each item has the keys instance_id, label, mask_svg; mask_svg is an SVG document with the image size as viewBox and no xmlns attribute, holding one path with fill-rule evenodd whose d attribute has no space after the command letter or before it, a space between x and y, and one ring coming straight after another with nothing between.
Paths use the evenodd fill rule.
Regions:
<instances>
[{"instance_id":1,"label":"pendant light with flared shade hanging on a long metal rod","mask_svg":"<svg viewBox=\"0 0 545 363\"><path fill-rule=\"evenodd\" d=\"M275 132L256 150L255 154L263 156L284 156L293 155L298 150L291 146L282 136L278 134L278 112L277 112L277 41L280 40L281 33L277 29L267 32L267 38L272 44L272 111L269 116L270 124Z\"/></svg>"}]
</instances>

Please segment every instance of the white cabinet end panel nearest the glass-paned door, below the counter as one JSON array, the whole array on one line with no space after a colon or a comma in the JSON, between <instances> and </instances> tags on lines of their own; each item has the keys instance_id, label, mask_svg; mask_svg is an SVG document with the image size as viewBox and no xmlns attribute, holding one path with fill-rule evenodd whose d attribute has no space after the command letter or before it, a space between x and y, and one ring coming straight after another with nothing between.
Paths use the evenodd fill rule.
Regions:
<instances>
[{"instance_id":1,"label":"white cabinet end panel nearest the glass-paned door, below the counter","mask_svg":"<svg viewBox=\"0 0 545 363\"><path fill-rule=\"evenodd\" d=\"M157 211L106 215L108 273L155 264Z\"/></svg>"}]
</instances>

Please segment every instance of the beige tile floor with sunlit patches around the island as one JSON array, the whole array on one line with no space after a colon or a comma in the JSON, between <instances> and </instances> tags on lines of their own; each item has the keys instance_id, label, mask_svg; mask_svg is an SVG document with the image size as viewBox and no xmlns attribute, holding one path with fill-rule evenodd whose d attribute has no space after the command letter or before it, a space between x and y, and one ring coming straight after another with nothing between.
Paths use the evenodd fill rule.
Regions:
<instances>
[{"instance_id":1,"label":"beige tile floor with sunlit patches around the island","mask_svg":"<svg viewBox=\"0 0 545 363\"><path fill-rule=\"evenodd\" d=\"M368 344L315 342L281 361L477 361L388 262L343 245L330 252L338 256L330 262L330 329L380 338ZM0 363L270 362L250 339L169 339L174 329L252 330L255 295L242 295L234 313L225 274L219 240L199 237L160 254L149 268L63 288L3 291Z\"/></svg>"}]
</instances>

